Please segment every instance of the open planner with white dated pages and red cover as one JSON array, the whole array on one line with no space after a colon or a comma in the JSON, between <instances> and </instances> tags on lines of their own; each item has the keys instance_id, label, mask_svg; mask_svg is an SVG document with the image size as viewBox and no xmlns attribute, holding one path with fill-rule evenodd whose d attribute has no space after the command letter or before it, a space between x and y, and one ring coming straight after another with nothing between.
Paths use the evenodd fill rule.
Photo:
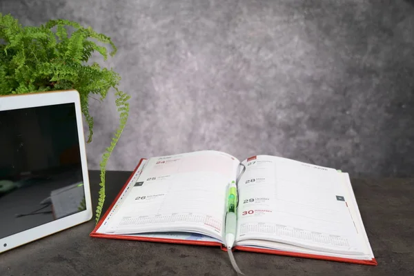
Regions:
<instances>
[{"instance_id":1,"label":"open planner with white dated pages and red cover","mask_svg":"<svg viewBox=\"0 0 414 276\"><path fill-rule=\"evenodd\" d=\"M377 265L347 173L204 150L141 159L90 236L226 249L236 181L234 250Z\"/></svg>"}]
</instances>

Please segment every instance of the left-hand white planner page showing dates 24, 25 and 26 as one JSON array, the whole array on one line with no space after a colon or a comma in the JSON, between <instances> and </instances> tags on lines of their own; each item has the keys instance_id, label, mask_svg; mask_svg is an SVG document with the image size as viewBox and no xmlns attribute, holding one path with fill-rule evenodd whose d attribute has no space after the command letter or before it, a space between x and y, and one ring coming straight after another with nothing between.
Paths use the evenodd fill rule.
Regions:
<instances>
[{"instance_id":1,"label":"left-hand white planner page showing dates 24, 25 and 26","mask_svg":"<svg viewBox=\"0 0 414 276\"><path fill-rule=\"evenodd\" d=\"M211 150L148 159L106 233L193 231L221 239L226 188L238 166Z\"/></svg>"}]
</instances>

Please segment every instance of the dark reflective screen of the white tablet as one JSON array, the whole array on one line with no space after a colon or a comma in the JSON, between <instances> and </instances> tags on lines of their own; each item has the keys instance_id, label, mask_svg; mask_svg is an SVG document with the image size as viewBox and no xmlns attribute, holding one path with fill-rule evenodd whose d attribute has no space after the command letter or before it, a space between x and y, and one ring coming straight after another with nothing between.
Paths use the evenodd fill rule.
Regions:
<instances>
[{"instance_id":1,"label":"dark reflective screen of the white tablet","mask_svg":"<svg viewBox=\"0 0 414 276\"><path fill-rule=\"evenodd\" d=\"M82 210L75 103L0 111L0 239Z\"/></svg>"}]
</instances>

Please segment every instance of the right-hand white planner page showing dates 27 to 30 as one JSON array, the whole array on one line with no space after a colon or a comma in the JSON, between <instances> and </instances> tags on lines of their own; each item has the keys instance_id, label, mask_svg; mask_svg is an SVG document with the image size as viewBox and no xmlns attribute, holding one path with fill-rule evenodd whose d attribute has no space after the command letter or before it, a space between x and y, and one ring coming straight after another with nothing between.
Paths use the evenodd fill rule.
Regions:
<instances>
[{"instance_id":1,"label":"right-hand white planner page showing dates 27 to 30","mask_svg":"<svg viewBox=\"0 0 414 276\"><path fill-rule=\"evenodd\" d=\"M239 181L237 240L266 239L363 255L337 170L257 156Z\"/></svg>"}]
</instances>

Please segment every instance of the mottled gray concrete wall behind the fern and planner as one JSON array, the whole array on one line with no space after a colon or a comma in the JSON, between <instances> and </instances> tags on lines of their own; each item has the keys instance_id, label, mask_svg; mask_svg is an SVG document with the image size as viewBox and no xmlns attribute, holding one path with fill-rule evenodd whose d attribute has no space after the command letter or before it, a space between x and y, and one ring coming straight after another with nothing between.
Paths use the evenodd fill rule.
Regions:
<instances>
[{"instance_id":1,"label":"mottled gray concrete wall behind the fern and planner","mask_svg":"<svg viewBox=\"0 0 414 276\"><path fill-rule=\"evenodd\" d=\"M0 10L115 41L108 66L132 99L108 169L214 149L414 175L412 1L3 0ZM117 128L113 99L90 101L90 168Z\"/></svg>"}]
</instances>

